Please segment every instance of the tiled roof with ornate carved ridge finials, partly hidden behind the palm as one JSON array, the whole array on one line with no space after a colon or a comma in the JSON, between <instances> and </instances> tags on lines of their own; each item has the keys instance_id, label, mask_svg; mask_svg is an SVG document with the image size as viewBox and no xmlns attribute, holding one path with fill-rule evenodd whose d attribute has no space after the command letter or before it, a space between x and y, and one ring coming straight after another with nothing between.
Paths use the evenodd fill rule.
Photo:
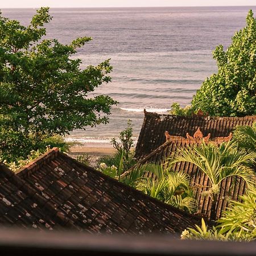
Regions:
<instances>
[{"instance_id":1,"label":"tiled roof with ornate carved ridge finials, partly hidden behind the palm","mask_svg":"<svg viewBox=\"0 0 256 256\"><path fill-rule=\"evenodd\" d=\"M223 138L223 137L222 137ZM220 144L225 140L221 140L221 138L216 139L211 143ZM156 148L156 150L152 151L146 157L141 159L138 164L145 163L156 163L160 164L164 162L166 158L169 158L171 155L174 155L180 148L182 147L191 147L195 146L195 144L200 144L201 141L196 141L195 139L185 139L172 137L166 143L162 144L162 146ZM206 141L206 143L208 143ZM133 167L134 168L134 167ZM175 171L183 171L191 176L191 185L195 191L196 200L199 202L199 210L198 213L202 216L210 216L210 207L212 205L212 201L209 195L205 195L205 192L209 189L209 179L208 177L199 171L193 164L187 162L176 163L173 167ZM231 187L232 179L236 179L236 184ZM218 196L218 203L216 205L217 208L217 218L221 217L222 211L228 207L228 203L230 199L238 200L238 196L243 195L245 193L246 185L243 180L240 178L229 178L221 183L221 192Z\"/></svg>"}]
</instances>

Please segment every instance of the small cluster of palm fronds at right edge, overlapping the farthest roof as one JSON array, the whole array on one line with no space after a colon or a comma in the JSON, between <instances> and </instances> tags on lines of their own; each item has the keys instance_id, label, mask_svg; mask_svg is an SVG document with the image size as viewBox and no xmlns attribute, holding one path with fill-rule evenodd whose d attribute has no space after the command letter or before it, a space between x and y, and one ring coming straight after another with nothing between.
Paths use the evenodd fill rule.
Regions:
<instances>
[{"instance_id":1,"label":"small cluster of palm fronds at right edge, overlapping the farthest roof","mask_svg":"<svg viewBox=\"0 0 256 256\"><path fill-rule=\"evenodd\" d=\"M256 122L252 126L236 126L232 139L239 147L256 152Z\"/></svg>"}]
</instances>

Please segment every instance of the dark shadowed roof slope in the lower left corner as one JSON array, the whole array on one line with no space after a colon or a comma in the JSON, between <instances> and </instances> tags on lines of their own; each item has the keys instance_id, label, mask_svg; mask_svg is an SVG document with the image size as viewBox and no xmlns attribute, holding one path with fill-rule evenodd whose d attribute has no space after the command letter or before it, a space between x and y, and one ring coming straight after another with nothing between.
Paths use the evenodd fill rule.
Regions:
<instances>
[{"instance_id":1,"label":"dark shadowed roof slope in the lower left corner","mask_svg":"<svg viewBox=\"0 0 256 256\"><path fill-rule=\"evenodd\" d=\"M0 224L23 228L61 229L68 225L38 191L0 163ZM72 226L72 225L71 225Z\"/></svg>"}]
</instances>

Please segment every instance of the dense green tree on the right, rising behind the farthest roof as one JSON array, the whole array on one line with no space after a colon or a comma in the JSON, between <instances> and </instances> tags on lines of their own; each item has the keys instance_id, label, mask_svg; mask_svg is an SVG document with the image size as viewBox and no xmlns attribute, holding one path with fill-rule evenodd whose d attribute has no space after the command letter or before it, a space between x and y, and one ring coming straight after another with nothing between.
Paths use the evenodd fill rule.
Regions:
<instances>
[{"instance_id":1,"label":"dense green tree on the right, rising behind the farthest roof","mask_svg":"<svg viewBox=\"0 0 256 256\"><path fill-rule=\"evenodd\" d=\"M224 51L213 52L218 73L207 78L192 100L192 108L210 115L243 116L256 113L256 20L250 10L247 26L236 32Z\"/></svg>"}]
</instances>

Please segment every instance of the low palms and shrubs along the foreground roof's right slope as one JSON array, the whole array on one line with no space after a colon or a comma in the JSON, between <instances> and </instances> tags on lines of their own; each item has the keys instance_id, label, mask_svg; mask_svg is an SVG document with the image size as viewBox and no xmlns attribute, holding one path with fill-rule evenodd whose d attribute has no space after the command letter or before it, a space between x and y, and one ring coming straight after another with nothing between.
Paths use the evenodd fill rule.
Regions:
<instances>
[{"instance_id":1,"label":"low palms and shrubs along the foreground roof's right slope","mask_svg":"<svg viewBox=\"0 0 256 256\"><path fill-rule=\"evenodd\" d=\"M118 152L116 154L118 156ZM164 201L176 208L194 213L197 210L197 201L193 198L193 191L189 186L189 176L182 172L174 172L165 164L143 164L137 166L125 176L123 174L123 157L116 158L119 163L115 165L107 158L105 162L98 164L98 170L118 179L122 183L139 189L143 193ZM110 160L110 161L109 161ZM154 177L146 177L150 173Z\"/></svg>"}]
</instances>

